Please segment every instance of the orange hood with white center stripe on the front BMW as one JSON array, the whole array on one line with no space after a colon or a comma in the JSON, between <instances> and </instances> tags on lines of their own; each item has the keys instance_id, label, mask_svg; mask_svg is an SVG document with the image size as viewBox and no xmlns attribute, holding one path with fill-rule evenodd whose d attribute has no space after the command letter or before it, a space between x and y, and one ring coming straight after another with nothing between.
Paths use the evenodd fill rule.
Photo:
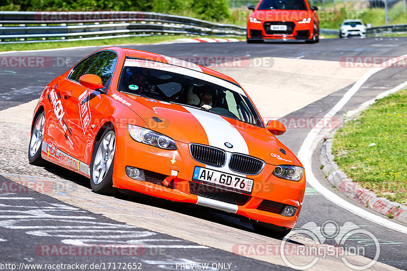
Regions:
<instances>
[{"instance_id":1,"label":"orange hood with white center stripe on the front BMW","mask_svg":"<svg viewBox=\"0 0 407 271\"><path fill-rule=\"evenodd\" d=\"M132 98L137 103L132 103L130 108L148 127L175 141L247 154L274 165L302 166L298 158L265 128L193 107L138 96ZM230 143L233 147L227 148L225 143Z\"/></svg>"}]
</instances>

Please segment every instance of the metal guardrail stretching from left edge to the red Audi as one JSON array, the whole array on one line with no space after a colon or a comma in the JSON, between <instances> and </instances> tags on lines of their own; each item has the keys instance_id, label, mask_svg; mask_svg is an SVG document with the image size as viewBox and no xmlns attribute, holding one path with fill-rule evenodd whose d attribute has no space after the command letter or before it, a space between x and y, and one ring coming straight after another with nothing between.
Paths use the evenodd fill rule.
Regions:
<instances>
[{"instance_id":1,"label":"metal guardrail stretching from left edge to the red Audi","mask_svg":"<svg viewBox=\"0 0 407 271\"><path fill-rule=\"evenodd\" d=\"M243 36L246 27L152 12L0 11L0 42L107 39L158 33Z\"/></svg>"}]
</instances>

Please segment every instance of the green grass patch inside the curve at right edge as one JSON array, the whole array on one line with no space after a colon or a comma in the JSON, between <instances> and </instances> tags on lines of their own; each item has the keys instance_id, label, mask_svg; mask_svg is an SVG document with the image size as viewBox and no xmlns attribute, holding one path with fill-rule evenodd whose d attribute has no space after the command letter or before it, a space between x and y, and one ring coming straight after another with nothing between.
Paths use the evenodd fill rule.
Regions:
<instances>
[{"instance_id":1,"label":"green grass patch inside the curve at right edge","mask_svg":"<svg viewBox=\"0 0 407 271\"><path fill-rule=\"evenodd\" d=\"M404 89L346 122L333 141L335 161L350 178L400 204L407 203L406 124Z\"/></svg>"}]
</instances>

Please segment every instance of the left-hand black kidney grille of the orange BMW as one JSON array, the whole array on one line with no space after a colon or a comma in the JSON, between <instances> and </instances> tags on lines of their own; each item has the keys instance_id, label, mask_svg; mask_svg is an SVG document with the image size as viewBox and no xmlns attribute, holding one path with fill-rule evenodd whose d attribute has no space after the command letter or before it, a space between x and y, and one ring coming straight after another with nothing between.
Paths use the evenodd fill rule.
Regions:
<instances>
[{"instance_id":1,"label":"left-hand black kidney grille of the orange BMW","mask_svg":"<svg viewBox=\"0 0 407 271\"><path fill-rule=\"evenodd\" d=\"M216 148L191 144L190 151L192 157L203 164L222 167L226 162L226 153Z\"/></svg>"}]
</instances>

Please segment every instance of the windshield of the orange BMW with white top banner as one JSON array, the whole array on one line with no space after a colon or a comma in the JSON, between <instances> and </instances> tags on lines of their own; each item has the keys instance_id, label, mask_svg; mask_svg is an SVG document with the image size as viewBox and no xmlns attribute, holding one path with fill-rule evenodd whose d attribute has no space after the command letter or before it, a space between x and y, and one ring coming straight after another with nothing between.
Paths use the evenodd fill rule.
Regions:
<instances>
[{"instance_id":1,"label":"windshield of the orange BMW with white top banner","mask_svg":"<svg viewBox=\"0 0 407 271\"><path fill-rule=\"evenodd\" d=\"M147 65L149 67L146 67ZM118 90L194 107L264 127L263 121L242 88L220 78L184 67L127 58Z\"/></svg>"}]
</instances>

